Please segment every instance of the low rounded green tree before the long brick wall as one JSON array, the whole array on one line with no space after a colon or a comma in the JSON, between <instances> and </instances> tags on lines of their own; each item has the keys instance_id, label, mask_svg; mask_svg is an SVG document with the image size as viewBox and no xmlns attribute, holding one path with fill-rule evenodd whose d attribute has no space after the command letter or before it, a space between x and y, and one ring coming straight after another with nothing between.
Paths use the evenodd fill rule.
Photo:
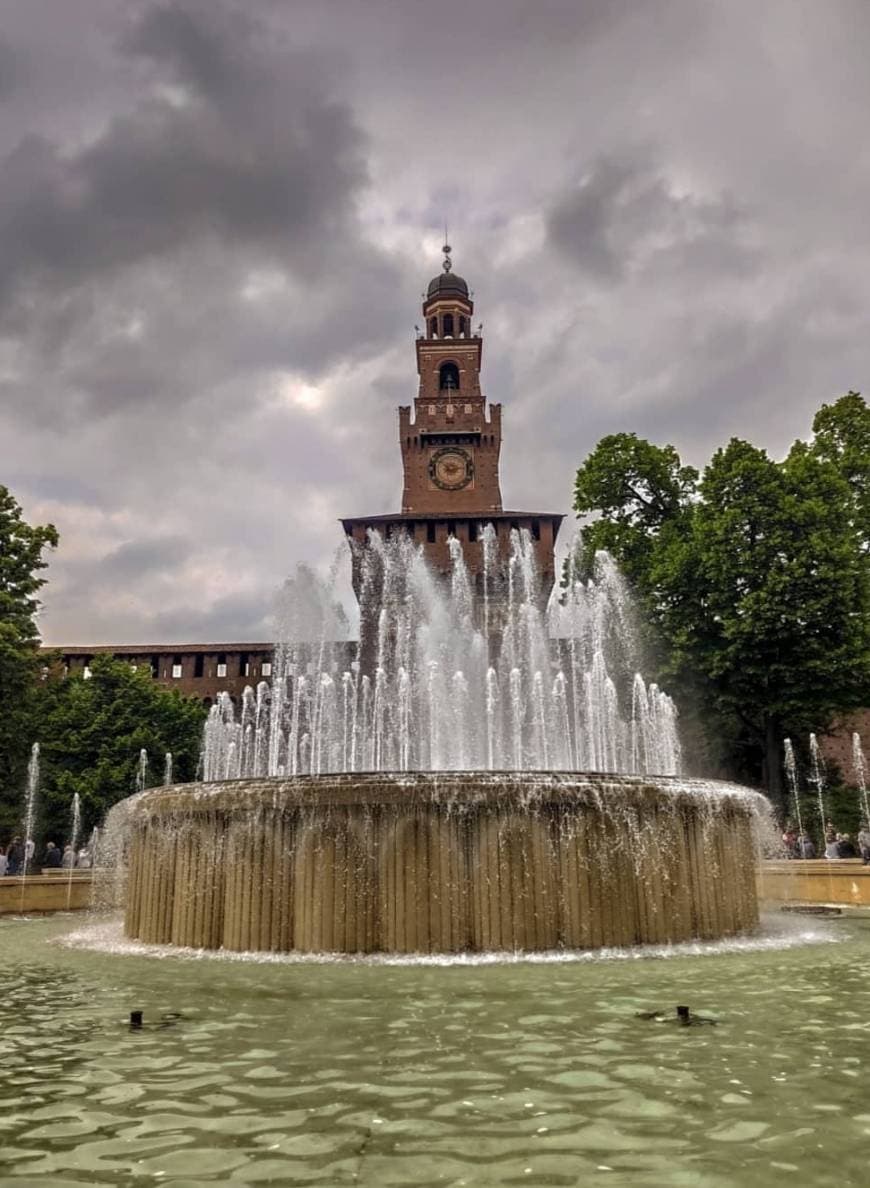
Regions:
<instances>
[{"instance_id":1,"label":"low rounded green tree before the long brick wall","mask_svg":"<svg viewBox=\"0 0 870 1188\"><path fill-rule=\"evenodd\" d=\"M162 782L166 751L179 783L195 778L198 763L206 716L201 702L107 656L94 659L90 671L89 678L51 678L37 694L39 832L58 843L69 835L75 792L86 834L135 790L141 750L150 759L149 784Z\"/></svg>"}]
</instances>

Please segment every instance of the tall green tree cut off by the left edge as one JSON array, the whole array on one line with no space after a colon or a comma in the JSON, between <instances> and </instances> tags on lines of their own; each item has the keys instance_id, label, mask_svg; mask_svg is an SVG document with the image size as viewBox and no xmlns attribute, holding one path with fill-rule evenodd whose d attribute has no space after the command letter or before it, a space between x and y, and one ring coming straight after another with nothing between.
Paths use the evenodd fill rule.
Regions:
<instances>
[{"instance_id":1,"label":"tall green tree cut off by the left edge","mask_svg":"<svg viewBox=\"0 0 870 1188\"><path fill-rule=\"evenodd\" d=\"M40 668L36 615L45 579L39 574L45 549L56 545L55 527L27 524L0 486L0 810L23 792Z\"/></svg>"}]
</instances>

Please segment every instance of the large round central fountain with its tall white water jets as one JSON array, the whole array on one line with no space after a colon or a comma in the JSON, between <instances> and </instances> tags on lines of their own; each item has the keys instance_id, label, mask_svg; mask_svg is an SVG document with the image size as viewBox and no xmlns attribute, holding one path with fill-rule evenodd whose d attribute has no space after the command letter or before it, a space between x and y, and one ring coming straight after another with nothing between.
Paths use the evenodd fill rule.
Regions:
<instances>
[{"instance_id":1,"label":"large round central fountain with its tall white water jets","mask_svg":"<svg viewBox=\"0 0 870 1188\"><path fill-rule=\"evenodd\" d=\"M201 783L145 791L143 756L107 830L126 838L128 936L460 953L755 927L767 801L681 776L674 704L637 671L610 558L544 611L532 542L513 531L479 626L450 551L443 582L406 536L372 538L359 649L330 638L328 588L320 639L289 608L271 688L213 707Z\"/></svg>"}]
</instances>

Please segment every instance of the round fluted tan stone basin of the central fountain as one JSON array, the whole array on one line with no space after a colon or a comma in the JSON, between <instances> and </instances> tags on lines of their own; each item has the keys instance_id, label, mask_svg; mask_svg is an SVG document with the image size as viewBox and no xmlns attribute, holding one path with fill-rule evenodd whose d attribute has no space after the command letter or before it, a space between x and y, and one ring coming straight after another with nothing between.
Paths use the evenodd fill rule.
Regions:
<instances>
[{"instance_id":1,"label":"round fluted tan stone basin of the central fountain","mask_svg":"<svg viewBox=\"0 0 870 1188\"><path fill-rule=\"evenodd\" d=\"M733 784L372 772L182 784L124 805L125 931L150 943L535 952L758 921L767 801Z\"/></svg>"}]
</instances>

